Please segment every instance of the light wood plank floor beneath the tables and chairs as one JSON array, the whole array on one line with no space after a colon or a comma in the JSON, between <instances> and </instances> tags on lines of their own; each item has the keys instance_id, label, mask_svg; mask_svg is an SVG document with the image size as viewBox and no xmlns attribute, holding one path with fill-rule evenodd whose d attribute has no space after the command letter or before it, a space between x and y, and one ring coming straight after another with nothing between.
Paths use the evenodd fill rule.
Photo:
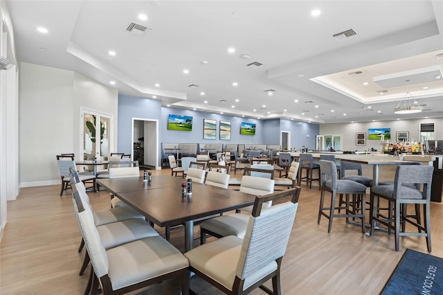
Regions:
<instances>
[{"instance_id":1,"label":"light wood plank floor beneath the tables and chairs","mask_svg":"<svg viewBox=\"0 0 443 295\"><path fill-rule=\"evenodd\" d=\"M152 170L168 174L169 169ZM385 172L387 173L387 172ZM389 178L392 171L388 172ZM386 175L385 175L386 176ZM8 202L8 224L0 243L0 294L82 294L87 274L78 276L84 250L78 253L80 232L71 192L60 186L23 188ZM401 238L396 252L393 235L377 231L366 238L360 227L334 220L317 224L320 192L302 185L296 221L282 262L283 294L379 294L406 248L426 253L424 238ZM95 210L109 208L109 193L89 193ZM431 204L434 256L443 257L443 205ZM163 229L156 228L163 235ZM196 227L195 238L199 238ZM171 242L183 251L183 231L172 231ZM199 240L195 240L195 247ZM192 278L199 294L219 292ZM141 294L179 294L179 281L168 280ZM252 294L263 294L255 290Z\"/></svg>"}]
</instances>

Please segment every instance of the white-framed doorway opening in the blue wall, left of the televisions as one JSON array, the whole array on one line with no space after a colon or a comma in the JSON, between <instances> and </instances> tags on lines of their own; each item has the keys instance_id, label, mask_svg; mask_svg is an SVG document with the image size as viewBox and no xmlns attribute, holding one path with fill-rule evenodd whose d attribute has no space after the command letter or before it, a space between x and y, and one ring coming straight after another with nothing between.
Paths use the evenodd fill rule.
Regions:
<instances>
[{"instance_id":1,"label":"white-framed doorway opening in the blue wall, left of the televisions","mask_svg":"<svg viewBox=\"0 0 443 295\"><path fill-rule=\"evenodd\" d=\"M140 169L161 169L159 165L159 120L132 118L132 159Z\"/></svg>"}]
</instances>

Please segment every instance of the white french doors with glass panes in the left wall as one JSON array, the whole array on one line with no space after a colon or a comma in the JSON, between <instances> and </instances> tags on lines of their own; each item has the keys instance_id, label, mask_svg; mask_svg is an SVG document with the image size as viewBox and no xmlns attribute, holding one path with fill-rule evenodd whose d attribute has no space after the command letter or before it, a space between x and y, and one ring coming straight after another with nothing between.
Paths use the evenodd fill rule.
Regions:
<instances>
[{"instance_id":1,"label":"white french doors with glass panes in the left wall","mask_svg":"<svg viewBox=\"0 0 443 295\"><path fill-rule=\"evenodd\" d=\"M80 108L80 159L107 160L113 149L114 115Z\"/></svg>"}]
</instances>

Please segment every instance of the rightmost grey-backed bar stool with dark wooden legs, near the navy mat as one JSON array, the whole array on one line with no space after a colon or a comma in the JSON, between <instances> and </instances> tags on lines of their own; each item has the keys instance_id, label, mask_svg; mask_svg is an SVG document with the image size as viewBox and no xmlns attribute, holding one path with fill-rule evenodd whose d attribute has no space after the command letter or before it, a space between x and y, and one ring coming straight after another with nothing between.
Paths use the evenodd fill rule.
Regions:
<instances>
[{"instance_id":1,"label":"rightmost grey-backed bar stool with dark wooden legs, near the navy mat","mask_svg":"<svg viewBox=\"0 0 443 295\"><path fill-rule=\"evenodd\" d=\"M399 165L395 171L393 186L371 187L371 235L374 233L374 226L378 222L387 226L389 233L391 230L395 232L395 251L399 251L399 237L413 235L426 237L428 252L431 252L430 206L433 170L433 166ZM379 199L388 200L390 208L388 217L379 214ZM415 204L415 215L407 214L408 204ZM392 215L392 205L394 215ZM419 212L420 205L423 206L423 222ZM418 233L406 232L406 223L416 227Z\"/></svg>"}]
</instances>

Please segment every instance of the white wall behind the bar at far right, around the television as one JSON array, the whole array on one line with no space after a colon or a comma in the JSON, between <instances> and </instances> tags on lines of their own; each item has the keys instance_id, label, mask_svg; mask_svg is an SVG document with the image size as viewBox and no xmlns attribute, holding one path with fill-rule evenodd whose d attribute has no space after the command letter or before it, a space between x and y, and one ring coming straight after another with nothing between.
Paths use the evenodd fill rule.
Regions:
<instances>
[{"instance_id":1,"label":"white wall behind the bar at far right, around the television","mask_svg":"<svg viewBox=\"0 0 443 295\"><path fill-rule=\"evenodd\" d=\"M390 128L391 140L399 131L408 131L409 138L419 138L419 123L435 123L435 138L443 138L443 118L423 118L418 120L387 120L377 122L320 124L320 134L342 134L343 150L381 150L379 141L368 141L368 129ZM366 145L356 145L356 132L366 132Z\"/></svg>"}]
</instances>

